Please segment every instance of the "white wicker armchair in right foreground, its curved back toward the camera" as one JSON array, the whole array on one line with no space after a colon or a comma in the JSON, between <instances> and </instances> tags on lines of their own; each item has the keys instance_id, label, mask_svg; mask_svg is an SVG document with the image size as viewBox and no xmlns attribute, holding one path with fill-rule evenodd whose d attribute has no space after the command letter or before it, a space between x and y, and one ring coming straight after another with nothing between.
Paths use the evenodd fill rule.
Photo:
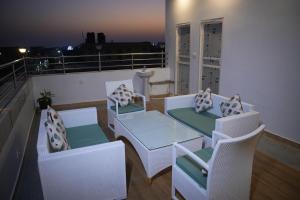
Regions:
<instances>
[{"instance_id":1,"label":"white wicker armchair in right foreground, its curved back toward the camera","mask_svg":"<svg viewBox=\"0 0 300 200\"><path fill-rule=\"evenodd\" d=\"M214 149L211 148L211 157L207 154L206 157L203 156L203 152L207 153L209 149L193 153L180 144L174 144L172 198L177 199L175 196L177 190L188 200L249 199L255 146L264 128L265 125L260 125L246 135L220 139ZM183 167L180 159L192 163L192 167L191 165ZM203 176L201 169L208 172L207 177Z\"/></svg>"}]
</instances>

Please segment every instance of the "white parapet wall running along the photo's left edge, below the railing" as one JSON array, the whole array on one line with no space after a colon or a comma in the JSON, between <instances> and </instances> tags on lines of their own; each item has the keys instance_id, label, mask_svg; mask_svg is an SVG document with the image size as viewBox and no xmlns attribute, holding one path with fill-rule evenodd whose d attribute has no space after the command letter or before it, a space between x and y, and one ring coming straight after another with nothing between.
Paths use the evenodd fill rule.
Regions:
<instances>
[{"instance_id":1,"label":"white parapet wall running along the photo's left edge, below the railing","mask_svg":"<svg viewBox=\"0 0 300 200\"><path fill-rule=\"evenodd\" d=\"M22 86L0 113L0 199L12 199L35 114L32 83Z\"/></svg>"}]
</instances>

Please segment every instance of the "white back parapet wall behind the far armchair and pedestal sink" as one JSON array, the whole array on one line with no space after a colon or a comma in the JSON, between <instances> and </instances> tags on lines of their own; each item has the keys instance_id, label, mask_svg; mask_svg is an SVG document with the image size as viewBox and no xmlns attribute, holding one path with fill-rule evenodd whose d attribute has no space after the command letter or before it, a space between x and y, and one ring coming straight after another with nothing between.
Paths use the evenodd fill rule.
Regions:
<instances>
[{"instance_id":1,"label":"white back parapet wall behind the far armchair and pedestal sink","mask_svg":"<svg viewBox=\"0 0 300 200\"><path fill-rule=\"evenodd\" d=\"M111 70L101 72L79 72L67 74L39 75L32 77L34 98L39 97L43 89L54 93L53 104L71 104L99 101L106 99L105 81L133 79L136 92L142 93L143 80L136 75L135 70ZM151 68L154 71L150 81L170 80L169 68ZM151 95L169 93L168 85L150 88Z\"/></svg>"}]
</instances>

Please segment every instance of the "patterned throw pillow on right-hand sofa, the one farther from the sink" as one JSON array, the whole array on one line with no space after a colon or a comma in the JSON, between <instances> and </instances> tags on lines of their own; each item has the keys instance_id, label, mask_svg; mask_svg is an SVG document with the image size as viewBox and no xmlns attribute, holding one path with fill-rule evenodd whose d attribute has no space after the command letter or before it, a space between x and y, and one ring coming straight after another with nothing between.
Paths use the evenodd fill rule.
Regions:
<instances>
[{"instance_id":1,"label":"patterned throw pillow on right-hand sofa, the one farther from the sink","mask_svg":"<svg viewBox=\"0 0 300 200\"><path fill-rule=\"evenodd\" d=\"M224 101L220 104L221 112L223 117L238 115L243 113L243 106L241 103L240 95L236 94L231 97L228 101Z\"/></svg>"}]
</instances>

